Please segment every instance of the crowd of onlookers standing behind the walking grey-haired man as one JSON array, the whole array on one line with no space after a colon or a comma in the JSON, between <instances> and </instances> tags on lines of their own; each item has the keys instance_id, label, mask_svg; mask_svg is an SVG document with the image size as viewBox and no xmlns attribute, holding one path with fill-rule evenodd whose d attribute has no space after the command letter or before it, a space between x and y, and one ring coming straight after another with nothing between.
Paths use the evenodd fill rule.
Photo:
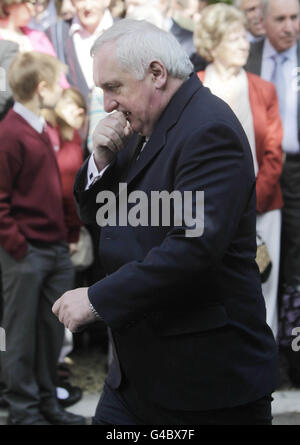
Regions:
<instances>
[{"instance_id":1,"label":"crowd of onlookers standing behind the walking grey-haired man","mask_svg":"<svg viewBox=\"0 0 300 445\"><path fill-rule=\"evenodd\" d=\"M266 319L289 379L300 385L291 348L300 322L299 2L231 3L0 1L0 325L7 338L0 382L9 423L84 423L60 403L58 365L73 339L51 307L105 274L99 230L80 221L73 186L98 122L111 111L95 85L91 49L124 18L173 34L192 71L247 135L257 244L271 264L262 279Z\"/></svg>"}]
</instances>

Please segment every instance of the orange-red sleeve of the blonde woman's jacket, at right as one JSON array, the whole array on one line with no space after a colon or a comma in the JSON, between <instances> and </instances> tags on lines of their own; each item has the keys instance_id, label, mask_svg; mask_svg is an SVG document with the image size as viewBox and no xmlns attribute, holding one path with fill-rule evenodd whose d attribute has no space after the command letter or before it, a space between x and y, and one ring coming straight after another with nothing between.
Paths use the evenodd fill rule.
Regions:
<instances>
[{"instance_id":1,"label":"orange-red sleeve of the blonde woman's jacket, at right","mask_svg":"<svg viewBox=\"0 0 300 445\"><path fill-rule=\"evenodd\" d=\"M256 182L257 211L263 213L273 199L283 166L282 123L275 87L271 84L263 91L267 112L267 125L263 141L263 158Z\"/></svg>"}]
</instances>

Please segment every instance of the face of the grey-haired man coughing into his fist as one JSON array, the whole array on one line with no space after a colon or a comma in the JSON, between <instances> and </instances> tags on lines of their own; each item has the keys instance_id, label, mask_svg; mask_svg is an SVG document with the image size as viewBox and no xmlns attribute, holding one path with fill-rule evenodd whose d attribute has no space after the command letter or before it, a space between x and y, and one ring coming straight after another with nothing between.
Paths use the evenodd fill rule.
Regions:
<instances>
[{"instance_id":1,"label":"face of the grey-haired man coughing into his fist","mask_svg":"<svg viewBox=\"0 0 300 445\"><path fill-rule=\"evenodd\" d=\"M131 128L150 136L162 109L160 90L155 87L150 71L142 80L122 68L116 57L116 45L105 43L94 59L94 82L102 88L107 113L125 114Z\"/></svg>"}]
</instances>

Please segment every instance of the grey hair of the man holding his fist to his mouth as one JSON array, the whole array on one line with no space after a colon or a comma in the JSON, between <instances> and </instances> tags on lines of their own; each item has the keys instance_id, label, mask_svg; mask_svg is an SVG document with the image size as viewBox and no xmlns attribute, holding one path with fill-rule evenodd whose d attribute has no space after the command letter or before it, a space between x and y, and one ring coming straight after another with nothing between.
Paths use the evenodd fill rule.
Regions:
<instances>
[{"instance_id":1,"label":"grey hair of the man holding his fist to his mouth","mask_svg":"<svg viewBox=\"0 0 300 445\"><path fill-rule=\"evenodd\" d=\"M171 77L186 79L194 70L176 38L145 20L123 19L105 31L91 50L95 57L108 42L116 42L120 65L142 80L153 60L161 62Z\"/></svg>"}]
</instances>

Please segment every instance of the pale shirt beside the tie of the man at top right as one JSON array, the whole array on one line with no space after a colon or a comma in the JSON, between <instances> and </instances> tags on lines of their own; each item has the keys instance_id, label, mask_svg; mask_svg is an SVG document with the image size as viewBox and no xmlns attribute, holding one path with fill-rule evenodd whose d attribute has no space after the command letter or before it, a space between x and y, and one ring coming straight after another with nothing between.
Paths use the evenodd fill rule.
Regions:
<instances>
[{"instance_id":1,"label":"pale shirt beside the tie of the man at top right","mask_svg":"<svg viewBox=\"0 0 300 445\"><path fill-rule=\"evenodd\" d=\"M263 47L261 68L261 77L265 80L271 80L274 70L274 60L272 57L276 54L277 52L271 45L269 39L266 39ZM287 58L282 68L286 87L285 112L284 118L282 119L284 129L282 147L287 153L298 153L297 45L280 54Z\"/></svg>"}]
</instances>

